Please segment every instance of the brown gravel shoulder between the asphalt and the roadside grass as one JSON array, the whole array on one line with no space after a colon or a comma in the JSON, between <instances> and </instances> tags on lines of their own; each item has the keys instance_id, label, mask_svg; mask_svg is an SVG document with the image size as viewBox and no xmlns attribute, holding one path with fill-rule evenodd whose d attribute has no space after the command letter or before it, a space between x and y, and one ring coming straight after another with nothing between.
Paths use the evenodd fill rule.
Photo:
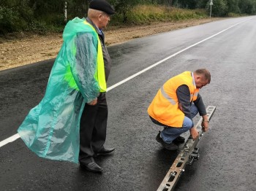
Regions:
<instances>
[{"instance_id":1,"label":"brown gravel shoulder between the asphalt and the roadside grass","mask_svg":"<svg viewBox=\"0 0 256 191\"><path fill-rule=\"evenodd\" d=\"M197 26L223 18L206 18L179 22L151 23L144 26L107 28L105 42L108 45L120 44L131 39L149 36L178 28ZM29 63L56 58L62 44L62 34L23 34L19 37L0 38L0 71L24 66Z\"/></svg>"}]
</instances>

